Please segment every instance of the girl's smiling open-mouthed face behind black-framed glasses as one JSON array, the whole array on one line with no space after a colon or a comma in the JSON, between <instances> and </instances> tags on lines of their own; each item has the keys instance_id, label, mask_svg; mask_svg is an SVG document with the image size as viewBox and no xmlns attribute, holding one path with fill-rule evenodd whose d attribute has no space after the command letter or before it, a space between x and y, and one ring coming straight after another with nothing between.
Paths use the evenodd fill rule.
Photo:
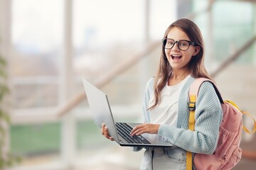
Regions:
<instances>
[{"instance_id":1,"label":"girl's smiling open-mouthed face behind black-framed glasses","mask_svg":"<svg viewBox=\"0 0 256 170\"><path fill-rule=\"evenodd\" d=\"M167 38L173 39L175 41L179 41L179 40L191 41L188 38L188 35L186 35L186 33L184 33L181 29L176 27L171 28L169 30ZM191 60L191 57L197 55L199 51L200 51L200 47L194 46L194 45L190 45L188 47L188 50L182 51L178 48L177 43L171 49L164 50L166 58L174 72L188 71L188 62Z\"/></svg>"}]
</instances>

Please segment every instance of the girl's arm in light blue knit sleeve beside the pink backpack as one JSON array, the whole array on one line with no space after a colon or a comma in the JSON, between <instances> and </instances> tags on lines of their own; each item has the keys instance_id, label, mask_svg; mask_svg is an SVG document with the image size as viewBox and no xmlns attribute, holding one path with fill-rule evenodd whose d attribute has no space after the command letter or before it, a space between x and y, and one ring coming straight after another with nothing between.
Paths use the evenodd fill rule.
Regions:
<instances>
[{"instance_id":1,"label":"girl's arm in light blue knit sleeve beside the pink backpack","mask_svg":"<svg viewBox=\"0 0 256 170\"><path fill-rule=\"evenodd\" d=\"M215 94L213 85L205 82L199 90L196 101L195 131L187 130L188 110L186 113L178 114L185 114L185 125L181 128L161 125L158 134L169 139L174 145L190 152L212 154L217 146L218 130L223 116L220 101Z\"/></svg>"}]
</instances>

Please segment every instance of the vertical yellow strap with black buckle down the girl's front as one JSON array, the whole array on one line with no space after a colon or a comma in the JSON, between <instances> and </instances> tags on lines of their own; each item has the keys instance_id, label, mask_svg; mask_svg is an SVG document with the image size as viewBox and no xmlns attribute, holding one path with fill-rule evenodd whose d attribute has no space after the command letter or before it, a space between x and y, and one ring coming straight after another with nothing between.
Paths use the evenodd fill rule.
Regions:
<instances>
[{"instance_id":1,"label":"vertical yellow strap with black buckle down the girl's front","mask_svg":"<svg viewBox=\"0 0 256 170\"><path fill-rule=\"evenodd\" d=\"M188 130L194 130L195 128L195 109L196 109L196 96L189 96L189 120L188 120ZM192 170L192 152L186 152L186 170Z\"/></svg>"}]
</instances>

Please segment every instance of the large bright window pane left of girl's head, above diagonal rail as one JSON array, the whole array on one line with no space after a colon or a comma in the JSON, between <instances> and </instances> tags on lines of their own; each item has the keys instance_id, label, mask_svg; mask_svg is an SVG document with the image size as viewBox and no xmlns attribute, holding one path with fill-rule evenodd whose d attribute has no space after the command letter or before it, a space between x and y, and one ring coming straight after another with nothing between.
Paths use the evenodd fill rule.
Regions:
<instances>
[{"instance_id":1,"label":"large bright window pane left of girl's head, above diagonal rail","mask_svg":"<svg viewBox=\"0 0 256 170\"><path fill-rule=\"evenodd\" d=\"M74 0L75 74L96 79L142 50L143 1ZM132 12L131 12L132 9Z\"/></svg>"}]
</instances>

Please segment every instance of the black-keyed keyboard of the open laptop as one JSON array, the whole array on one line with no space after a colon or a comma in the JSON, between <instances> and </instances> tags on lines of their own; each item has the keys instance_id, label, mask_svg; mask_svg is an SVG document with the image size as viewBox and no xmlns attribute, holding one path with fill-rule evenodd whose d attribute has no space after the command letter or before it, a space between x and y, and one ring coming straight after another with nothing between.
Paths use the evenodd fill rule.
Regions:
<instances>
[{"instance_id":1,"label":"black-keyed keyboard of the open laptop","mask_svg":"<svg viewBox=\"0 0 256 170\"><path fill-rule=\"evenodd\" d=\"M122 136L127 142L129 143L136 143L136 144L150 144L148 140L142 135L130 135L132 131L132 127L127 123L115 123L117 127L117 132L120 136Z\"/></svg>"}]
</instances>

